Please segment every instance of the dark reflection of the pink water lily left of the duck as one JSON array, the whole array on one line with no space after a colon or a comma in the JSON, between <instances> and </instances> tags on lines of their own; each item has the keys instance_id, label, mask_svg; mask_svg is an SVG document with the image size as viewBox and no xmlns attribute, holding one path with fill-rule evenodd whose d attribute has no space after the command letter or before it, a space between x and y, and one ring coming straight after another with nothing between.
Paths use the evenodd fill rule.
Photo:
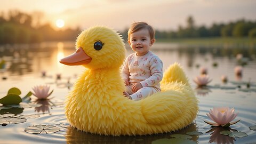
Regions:
<instances>
[{"instance_id":1,"label":"dark reflection of the pink water lily left of the duck","mask_svg":"<svg viewBox=\"0 0 256 144\"><path fill-rule=\"evenodd\" d=\"M50 114L50 107L51 107L51 101L49 99L42 99L42 100L36 100L34 101L35 104L41 104L39 107L35 107L35 112L43 114L49 113Z\"/></svg>"}]
</instances>

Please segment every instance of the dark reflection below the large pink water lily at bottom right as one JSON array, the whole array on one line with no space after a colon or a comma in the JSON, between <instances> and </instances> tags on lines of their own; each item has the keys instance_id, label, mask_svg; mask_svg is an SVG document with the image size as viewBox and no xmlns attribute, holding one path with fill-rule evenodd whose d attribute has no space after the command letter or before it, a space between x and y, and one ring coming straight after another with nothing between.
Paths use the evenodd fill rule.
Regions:
<instances>
[{"instance_id":1,"label":"dark reflection below the large pink water lily at bottom right","mask_svg":"<svg viewBox=\"0 0 256 144\"><path fill-rule=\"evenodd\" d=\"M234 141L236 141L235 138L229 137L228 135L223 135L220 134L221 131L237 131L237 130L233 130L230 127L214 127L213 129L211 129L210 131L207 131L206 133L210 133L212 132L210 135L210 140L209 143L217 143L217 144L229 144L229 143L234 143Z\"/></svg>"}]
</instances>

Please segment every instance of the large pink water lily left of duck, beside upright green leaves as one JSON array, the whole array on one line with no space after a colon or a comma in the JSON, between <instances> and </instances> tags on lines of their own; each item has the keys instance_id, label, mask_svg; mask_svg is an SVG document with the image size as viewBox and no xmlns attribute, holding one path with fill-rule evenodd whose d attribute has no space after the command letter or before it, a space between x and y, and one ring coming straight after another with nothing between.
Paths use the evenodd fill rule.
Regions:
<instances>
[{"instance_id":1,"label":"large pink water lily left of duck, beside upright green leaves","mask_svg":"<svg viewBox=\"0 0 256 144\"><path fill-rule=\"evenodd\" d=\"M47 99L49 97L53 90L49 93L50 86L47 85L39 85L39 86L34 86L33 88L33 95L37 97L37 99Z\"/></svg>"}]
</instances>

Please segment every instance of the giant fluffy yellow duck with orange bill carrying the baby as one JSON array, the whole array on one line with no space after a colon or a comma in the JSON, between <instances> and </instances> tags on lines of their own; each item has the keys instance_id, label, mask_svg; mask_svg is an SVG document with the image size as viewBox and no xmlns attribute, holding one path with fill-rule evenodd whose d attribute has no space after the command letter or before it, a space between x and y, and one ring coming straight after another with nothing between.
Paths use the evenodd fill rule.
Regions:
<instances>
[{"instance_id":1,"label":"giant fluffy yellow duck with orange bill carrying the baby","mask_svg":"<svg viewBox=\"0 0 256 144\"><path fill-rule=\"evenodd\" d=\"M123 96L119 68L125 46L114 30L95 26L77 37L76 52L60 60L86 69L66 98L65 114L78 130L105 135L144 135L182 129L195 119L198 101L182 68L164 73L161 92L140 101Z\"/></svg>"}]
</instances>

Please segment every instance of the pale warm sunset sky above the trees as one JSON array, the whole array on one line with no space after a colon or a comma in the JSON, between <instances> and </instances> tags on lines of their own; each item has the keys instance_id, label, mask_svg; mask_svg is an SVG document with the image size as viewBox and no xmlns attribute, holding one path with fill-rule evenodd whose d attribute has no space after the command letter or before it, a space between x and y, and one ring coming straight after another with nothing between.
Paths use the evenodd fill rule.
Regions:
<instances>
[{"instance_id":1,"label":"pale warm sunset sky above the trees","mask_svg":"<svg viewBox=\"0 0 256 144\"><path fill-rule=\"evenodd\" d=\"M63 28L103 25L116 30L129 28L132 22L145 21L158 30L176 30L186 26L191 15L197 26L211 26L239 19L256 21L254 0L0 0L0 12L19 10L29 14L42 12L41 23L65 21Z\"/></svg>"}]
</instances>

